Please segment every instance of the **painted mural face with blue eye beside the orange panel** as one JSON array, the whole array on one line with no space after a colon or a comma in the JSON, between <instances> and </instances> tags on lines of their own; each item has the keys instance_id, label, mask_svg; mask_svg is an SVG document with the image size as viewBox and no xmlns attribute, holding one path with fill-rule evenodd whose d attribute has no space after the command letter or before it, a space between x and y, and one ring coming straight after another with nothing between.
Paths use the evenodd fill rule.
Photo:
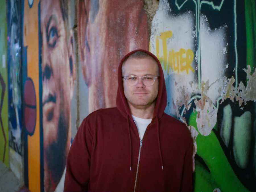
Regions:
<instances>
[{"instance_id":1,"label":"painted mural face with blue eye beside the orange panel","mask_svg":"<svg viewBox=\"0 0 256 192\"><path fill-rule=\"evenodd\" d=\"M70 105L76 70L73 36L68 30L64 5L63 0L41 1L40 5L45 191L61 187L59 182L65 178L63 173L71 141Z\"/></svg>"}]
</instances>

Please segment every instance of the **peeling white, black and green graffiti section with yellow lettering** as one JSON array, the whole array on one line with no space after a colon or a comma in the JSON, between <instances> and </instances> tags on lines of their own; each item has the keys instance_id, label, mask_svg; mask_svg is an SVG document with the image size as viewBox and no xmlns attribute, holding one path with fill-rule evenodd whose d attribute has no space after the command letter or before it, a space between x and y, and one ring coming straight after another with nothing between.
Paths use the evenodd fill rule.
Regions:
<instances>
[{"instance_id":1,"label":"peeling white, black and green graffiti section with yellow lettering","mask_svg":"<svg viewBox=\"0 0 256 192\"><path fill-rule=\"evenodd\" d=\"M165 112L195 139L195 191L256 190L253 26L255 1L163 0L152 21Z\"/></svg>"}]
</instances>

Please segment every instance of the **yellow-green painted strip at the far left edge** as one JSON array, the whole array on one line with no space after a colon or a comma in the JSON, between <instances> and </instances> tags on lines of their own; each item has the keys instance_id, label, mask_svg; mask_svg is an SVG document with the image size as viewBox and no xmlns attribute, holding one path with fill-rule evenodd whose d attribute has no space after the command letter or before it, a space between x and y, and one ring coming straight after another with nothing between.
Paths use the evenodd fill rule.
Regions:
<instances>
[{"instance_id":1,"label":"yellow-green painted strip at the far left edge","mask_svg":"<svg viewBox=\"0 0 256 192\"><path fill-rule=\"evenodd\" d=\"M6 2L0 7L0 161L9 166Z\"/></svg>"}]
</instances>

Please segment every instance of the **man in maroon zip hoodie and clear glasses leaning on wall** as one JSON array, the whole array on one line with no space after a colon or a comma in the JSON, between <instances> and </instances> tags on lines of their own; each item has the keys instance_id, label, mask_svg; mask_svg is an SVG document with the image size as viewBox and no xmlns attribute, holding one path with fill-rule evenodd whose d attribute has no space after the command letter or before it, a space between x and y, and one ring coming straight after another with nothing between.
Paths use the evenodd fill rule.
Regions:
<instances>
[{"instance_id":1,"label":"man in maroon zip hoodie and clear glasses leaning on wall","mask_svg":"<svg viewBox=\"0 0 256 192\"><path fill-rule=\"evenodd\" d=\"M139 49L121 60L116 105L82 122L64 191L192 191L191 135L164 113L164 75L152 53Z\"/></svg>"}]
</instances>

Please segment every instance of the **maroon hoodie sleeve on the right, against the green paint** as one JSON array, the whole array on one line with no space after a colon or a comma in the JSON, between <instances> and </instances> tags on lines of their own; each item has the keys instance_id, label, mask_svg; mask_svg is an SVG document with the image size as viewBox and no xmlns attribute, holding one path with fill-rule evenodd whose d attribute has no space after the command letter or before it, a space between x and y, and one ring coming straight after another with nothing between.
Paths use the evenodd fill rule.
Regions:
<instances>
[{"instance_id":1,"label":"maroon hoodie sleeve on the right, against the green paint","mask_svg":"<svg viewBox=\"0 0 256 192\"><path fill-rule=\"evenodd\" d=\"M181 181L182 192L193 191L192 176L193 176L193 140L191 138L191 141L189 143L189 146L187 148L185 158L184 158L182 181Z\"/></svg>"}]
</instances>

